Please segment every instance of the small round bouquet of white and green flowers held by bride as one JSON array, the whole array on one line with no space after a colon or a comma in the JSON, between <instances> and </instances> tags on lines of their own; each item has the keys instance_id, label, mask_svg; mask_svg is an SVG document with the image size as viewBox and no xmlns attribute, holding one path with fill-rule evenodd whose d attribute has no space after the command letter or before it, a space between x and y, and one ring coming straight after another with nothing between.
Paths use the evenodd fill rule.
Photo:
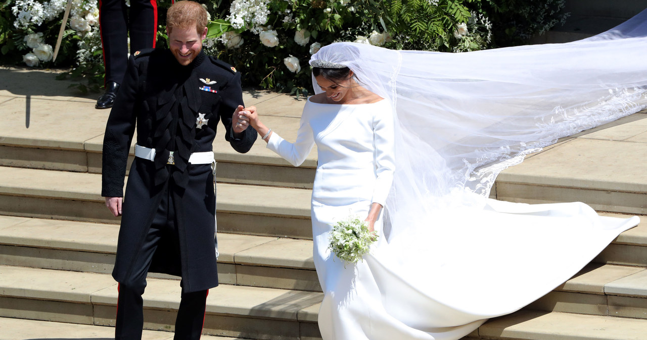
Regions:
<instances>
[{"instance_id":1,"label":"small round bouquet of white and green flowers held by bride","mask_svg":"<svg viewBox=\"0 0 647 340\"><path fill-rule=\"evenodd\" d=\"M333 226L328 248L346 263L362 260L369 251L371 243L377 241L377 232L370 232L366 222L350 216Z\"/></svg>"}]
</instances>

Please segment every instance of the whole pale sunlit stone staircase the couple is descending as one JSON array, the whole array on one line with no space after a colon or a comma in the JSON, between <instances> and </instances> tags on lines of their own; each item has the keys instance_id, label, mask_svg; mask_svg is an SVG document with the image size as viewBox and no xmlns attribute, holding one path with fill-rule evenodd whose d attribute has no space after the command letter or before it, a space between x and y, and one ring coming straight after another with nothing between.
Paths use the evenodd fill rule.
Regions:
<instances>
[{"instance_id":1,"label":"whole pale sunlit stone staircase the couple is descending","mask_svg":"<svg viewBox=\"0 0 647 340\"><path fill-rule=\"evenodd\" d=\"M100 197L108 112L50 72L0 68L0 79L0 339L112 337L119 226ZM303 101L247 90L245 103L273 130L296 136ZM646 118L631 115L527 157L499 175L492 196L647 214ZM221 140L214 150L221 286L210 290L204 334L320 339L309 220L316 152L293 168L263 141L244 155ZM646 269L643 222L564 285L465 339L647 339ZM149 275L145 339L172 338L179 296L177 277Z\"/></svg>"}]
</instances>

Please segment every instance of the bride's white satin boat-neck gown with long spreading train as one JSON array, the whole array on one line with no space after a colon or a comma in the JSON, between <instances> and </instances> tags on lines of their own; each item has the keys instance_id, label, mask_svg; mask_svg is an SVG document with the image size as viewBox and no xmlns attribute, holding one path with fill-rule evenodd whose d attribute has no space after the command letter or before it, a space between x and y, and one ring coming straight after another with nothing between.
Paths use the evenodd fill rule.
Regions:
<instances>
[{"instance_id":1,"label":"bride's white satin boat-neck gown with long spreading train","mask_svg":"<svg viewBox=\"0 0 647 340\"><path fill-rule=\"evenodd\" d=\"M402 221L411 224L406 234L387 237L380 217L371 254L344 265L327 248L332 225L363 219L391 186L389 104L308 101L295 143L276 133L268 143L295 166L317 145L311 214L323 339L459 339L551 291L638 223L600 217L584 203L525 205L461 192L433 203L432 219Z\"/></svg>"}]
</instances>

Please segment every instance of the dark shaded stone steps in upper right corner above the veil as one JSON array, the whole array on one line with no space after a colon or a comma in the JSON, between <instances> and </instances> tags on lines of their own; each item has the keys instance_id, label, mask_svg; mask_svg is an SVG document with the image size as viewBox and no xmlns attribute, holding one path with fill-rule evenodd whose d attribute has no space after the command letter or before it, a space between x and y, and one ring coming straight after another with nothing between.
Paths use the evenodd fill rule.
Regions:
<instances>
[{"instance_id":1,"label":"dark shaded stone steps in upper right corner above the veil","mask_svg":"<svg viewBox=\"0 0 647 340\"><path fill-rule=\"evenodd\" d=\"M565 0L569 13L564 25L535 37L532 43L567 43L591 37L620 25L647 8L647 0Z\"/></svg>"}]
</instances>

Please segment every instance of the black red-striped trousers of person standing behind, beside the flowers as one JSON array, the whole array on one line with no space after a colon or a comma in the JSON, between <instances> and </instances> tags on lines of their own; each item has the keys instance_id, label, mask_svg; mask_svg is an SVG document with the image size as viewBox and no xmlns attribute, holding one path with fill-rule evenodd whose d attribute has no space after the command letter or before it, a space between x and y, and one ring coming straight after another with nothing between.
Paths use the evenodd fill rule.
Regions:
<instances>
[{"instance_id":1,"label":"black red-striped trousers of person standing behind, beside the flowers","mask_svg":"<svg viewBox=\"0 0 647 340\"><path fill-rule=\"evenodd\" d=\"M99 28L104 48L105 82L121 84L130 53L155 47L157 37L157 0L99 0Z\"/></svg>"}]
</instances>

